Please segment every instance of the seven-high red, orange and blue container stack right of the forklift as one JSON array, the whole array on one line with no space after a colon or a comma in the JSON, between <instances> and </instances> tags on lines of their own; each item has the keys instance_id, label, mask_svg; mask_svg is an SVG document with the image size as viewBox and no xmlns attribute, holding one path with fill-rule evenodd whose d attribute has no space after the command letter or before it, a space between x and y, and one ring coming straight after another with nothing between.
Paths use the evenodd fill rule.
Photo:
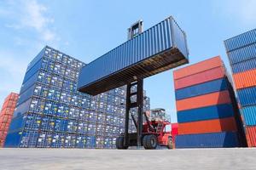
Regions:
<instances>
[{"instance_id":1,"label":"seven-high red, orange and blue container stack right of the forklift","mask_svg":"<svg viewBox=\"0 0 256 170\"><path fill-rule=\"evenodd\" d=\"M242 138L236 101L220 57L178 69L173 75L176 148L239 146Z\"/></svg>"}]
</instances>

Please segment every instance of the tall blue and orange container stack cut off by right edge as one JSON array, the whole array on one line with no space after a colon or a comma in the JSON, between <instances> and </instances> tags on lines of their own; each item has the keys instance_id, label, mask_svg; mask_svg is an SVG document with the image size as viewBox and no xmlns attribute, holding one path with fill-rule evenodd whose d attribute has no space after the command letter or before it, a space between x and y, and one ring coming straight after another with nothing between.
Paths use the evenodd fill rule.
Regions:
<instances>
[{"instance_id":1,"label":"tall blue and orange container stack cut off by right edge","mask_svg":"<svg viewBox=\"0 0 256 170\"><path fill-rule=\"evenodd\" d=\"M256 29L224 41L236 85L247 144L256 147Z\"/></svg>"}]
</instances>

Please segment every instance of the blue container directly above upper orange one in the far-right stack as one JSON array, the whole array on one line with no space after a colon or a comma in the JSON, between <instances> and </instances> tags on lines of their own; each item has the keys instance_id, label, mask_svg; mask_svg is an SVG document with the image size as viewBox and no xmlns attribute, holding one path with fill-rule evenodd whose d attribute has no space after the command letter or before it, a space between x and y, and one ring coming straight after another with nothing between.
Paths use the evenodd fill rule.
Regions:
<instances>
[{"instance_id":1,"label":"blue container directly above upper orange one in the far-right stack","mask_svg":"<svg viewBox=\"0 0 256 170\"><path fill-rule=\"evenodd\" d=\"M231 65L231 68L233 73L256 69L256 58L248 59L240 63L236 63L234 65Z\"/></svg>"}]
</instances>

